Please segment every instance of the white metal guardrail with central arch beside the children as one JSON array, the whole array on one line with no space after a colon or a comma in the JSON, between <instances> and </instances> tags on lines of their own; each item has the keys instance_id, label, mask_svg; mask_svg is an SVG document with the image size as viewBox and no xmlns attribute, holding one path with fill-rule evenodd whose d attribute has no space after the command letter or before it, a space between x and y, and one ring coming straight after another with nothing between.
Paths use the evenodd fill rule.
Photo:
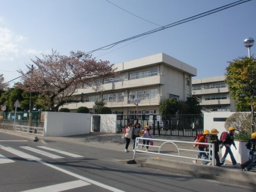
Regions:
<instances>
[{"instance_id":1,"label":"white metal guardrail with central arch beside the children","mask_svg":"<svg viewBox=\"0 0 256 192\"><path fill-rule=\"evenodd\" d=\"M142 144L142 141L143 140L150 140L150 141L153 141L154 142L154 145L144 145ZM160 142L160 145L155 145L157 143ZM164 146L164 144L167 144L167 143L171 143L173 144L176 148L177 148L177 153L178 155L172 155L172 154L164 154L164 153L161 153L161 147ZM199 159L199 158L193 158L193 157L187 157L187 156L181 156L180 155L180 151L192 151L192 152L202 152L200 150L191 150L191 149L182 149L182 148L179 148L177 146L177 144L180 144L180 143L187 143L187 144L191 144L191 146L193 144L202 144L202 145L208 145L208 150L207 151L204 151L206 154L208 154L209 157L211 157L209 160L208 159ZM140 150L140 147L139 146L150 146L151 147L154 147L154 148L158 148L158 152L153 152L153 151L145 151L145 150ZM138 148L139 147L139 148ZM172 149L173 150L173 149ZM211 153L211 151L213 151ZM151 139L151 138L140 138L140 137L137 137L136 140L135 140L135 149L134 149L134 154L133 154L133 159L135 159L135 156L136 156L136 152L144 152L144 153L150 153L150 154L157 154L157 155L163 155L163 156L172 156L172 157L177 157L177 158L185 158L185 159L192 159L192 160L201 160L201 161L208 161L208 162L211 162L212 163L212 166L215 165L215 156L214 156L214 144L211 144L211 143L195 143L195 142L188 142L188 141L175 141L175 140L163 140L163 139Z\"/></svg>"}]
</instances>

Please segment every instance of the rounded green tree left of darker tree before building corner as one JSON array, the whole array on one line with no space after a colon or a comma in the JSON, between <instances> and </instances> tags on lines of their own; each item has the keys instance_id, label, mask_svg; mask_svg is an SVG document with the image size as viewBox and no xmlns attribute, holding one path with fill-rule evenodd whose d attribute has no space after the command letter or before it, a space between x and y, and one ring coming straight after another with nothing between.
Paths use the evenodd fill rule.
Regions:
<instances>
[{"instance_id":1,"label":"rounded green tree left of darker tree before building corner","mask_svg":"<svg viewBox=\"0 0 256 192\"><path fill-rule=\"evenodd\" d=\"M160 113L162 115L176 114L178 109L178 102L174 98L168 98L160 101Z\"/></svg>"}]
</instances>

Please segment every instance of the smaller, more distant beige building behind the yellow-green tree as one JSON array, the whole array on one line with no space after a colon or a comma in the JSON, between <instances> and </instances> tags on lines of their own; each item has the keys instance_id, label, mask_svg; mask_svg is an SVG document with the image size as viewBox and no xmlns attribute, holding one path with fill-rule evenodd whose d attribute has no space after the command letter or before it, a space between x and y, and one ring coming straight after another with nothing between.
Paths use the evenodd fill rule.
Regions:
<instances>
[{"instance_id":1,"label":"smaller, more distant beige building behind the yellow-green tree","mask_svg":"<svg viewBox=\"0 0 256 192\"><path fill-rule=\"evenodd\" d=\"M235 112L225 76L192 80L192 94L198 98L203 112Z\"/></svg>"}]
</instances>

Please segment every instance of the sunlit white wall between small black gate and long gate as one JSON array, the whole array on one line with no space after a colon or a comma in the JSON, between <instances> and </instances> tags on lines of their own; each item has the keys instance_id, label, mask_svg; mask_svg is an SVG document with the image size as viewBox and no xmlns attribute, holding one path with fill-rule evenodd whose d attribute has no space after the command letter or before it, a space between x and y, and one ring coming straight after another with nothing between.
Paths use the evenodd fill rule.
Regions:
<instances>
[{"instance_id":1,"label":"sunlit white wall between small black gate and long gate","mask_svg":"<svg viewBox=\"0 0 256 192\"><path fill-rule=\"evenodd\" d=\"M92 122L92 116L91 116L91 122ZM100 132L116 133L117 115L116 114L113 114L113 115L112 114L107 114L107 115L100 114L99 116L100 116ZM90 126L90 130L92 131L92 123Z\"/></svg>"}]
</instances>

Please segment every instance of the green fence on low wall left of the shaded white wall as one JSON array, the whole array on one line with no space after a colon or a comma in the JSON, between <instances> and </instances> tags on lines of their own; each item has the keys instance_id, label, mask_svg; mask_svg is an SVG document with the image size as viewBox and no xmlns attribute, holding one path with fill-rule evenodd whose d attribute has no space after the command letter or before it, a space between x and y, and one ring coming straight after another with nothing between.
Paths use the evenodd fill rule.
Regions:
<instances>
[{"instance_id":1,"label":"green fence on low wall left of the shaded white wall","mask_svg":"<svg viewBox=\"0 0 256 192\"><path fill-rule=\"evenodd\" d=\"M14 115L14 112L4 112L1 116L1 119L14 121ZM16 112L16 121L29 121L29 112ZM33 111L32 122L44 122L44 111Z\"/></svg>"}]
</instances>

